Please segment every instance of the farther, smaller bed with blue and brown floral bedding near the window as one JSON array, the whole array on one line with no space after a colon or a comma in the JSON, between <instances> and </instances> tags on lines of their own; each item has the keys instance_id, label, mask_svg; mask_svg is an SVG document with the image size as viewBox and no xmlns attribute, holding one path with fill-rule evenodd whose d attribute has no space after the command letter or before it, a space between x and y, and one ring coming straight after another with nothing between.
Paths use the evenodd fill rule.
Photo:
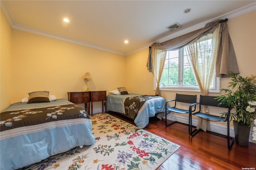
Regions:
<instances>
[{"instance_id":1,"label":"farther, smaller bed with blue and brown floral bedding near the window","mask_svg":"<svg viewBox=\"0 0 256 170\"><path fill-rule=\"evenodd\" d=\"M140 94L108 94L107 111L121 113L134 120L139 129L148 125L149 117L165 111L166 100L161 96Z\"/></svg>"}]
</instances>

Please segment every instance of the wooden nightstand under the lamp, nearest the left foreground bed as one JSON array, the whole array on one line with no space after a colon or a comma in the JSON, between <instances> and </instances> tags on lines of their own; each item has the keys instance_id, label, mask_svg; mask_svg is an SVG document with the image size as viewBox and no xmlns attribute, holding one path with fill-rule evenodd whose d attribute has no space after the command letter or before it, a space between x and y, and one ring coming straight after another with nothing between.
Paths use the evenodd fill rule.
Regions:
<instances>
[{"instance_id":1,"label":"wooden nightstand under the lamp, nearest the left foreground bed","mask_svg":"<svg viewBox=\"0 0 256 170\"><path fill-rule=\"evenodd\" d=\"M68 92L68 101L74 104L84 103L84 109L90 114L90 92Z\"/></svg>"}]
</instances>

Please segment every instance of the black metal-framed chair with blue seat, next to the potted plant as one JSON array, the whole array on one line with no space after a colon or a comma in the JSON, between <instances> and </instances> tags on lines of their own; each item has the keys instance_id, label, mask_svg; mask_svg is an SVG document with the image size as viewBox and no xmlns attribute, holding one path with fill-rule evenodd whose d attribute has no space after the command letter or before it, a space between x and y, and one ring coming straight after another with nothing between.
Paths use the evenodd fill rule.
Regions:
<instances>
[{"instance_id":1,"label":"black metal-framed chair with blue seat, next to the potted plant","mask_svg":"<svg viewBox=\"0 0 256 170\"><path fill-rule=\"evenodd\" d=\"M222 137L226 137L228 140L228 149L231 150L232 146L234 144L234 138L230 137L230 107L224 104L220 104L220 101L215 99L216 96L202 96L200 95L200 102L198 103L194 103L191 104L190 107L192 108L193 106L196 106L199 104L199 111L192 113L192 111L189 112L189 134L194 137L201 129L194 129L194 131L192 130L192 115L198 116L202 119L206 119L207 121L226 121L227 122L227 135L223 135L220 133L216 133L216 132L212 132L212 131L208 131L209 133L213 133L215 135L219 135ZM216 115L210 115L208 113L203 113L201 112L201 106L214 106L214 107L223 107L223 108L227 108L227 117L219 117ZM189 110L191 110L191 108ZM231 142L230 142L231 141Z\"/></svg>"}]
</instances>

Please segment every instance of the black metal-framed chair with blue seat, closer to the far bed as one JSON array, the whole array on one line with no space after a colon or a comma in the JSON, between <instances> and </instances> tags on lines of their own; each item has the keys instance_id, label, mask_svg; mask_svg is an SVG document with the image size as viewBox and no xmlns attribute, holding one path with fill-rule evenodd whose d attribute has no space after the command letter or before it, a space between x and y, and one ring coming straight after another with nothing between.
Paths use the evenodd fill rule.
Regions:
<instances>
[{"instance_id":1,"label":"black metal-framed chair with blue seat, closer to the far bed","mask_svg":"<svg viewBox=\"0 0 256 170\"><path fill-rule=\"evenodd\" d=\"M175 102L174 107L168 107L169 102ZM196 106L194 106L194 109L192 110L192 107L188 108L188 110L185 109L179 109L176 107L176 102L182 102L182 103L188 103L188 104L193 104L196 103L196 95L187 95L187 94L176 94L175 100L168 100L166 101L165 104L165 125L169 126L172 125L178 121L173 121L172 123L167 124L167 112L174 112L174 113L189 113L189 112L194 112L196 110ZM191 109L191 111L189 110Z\"/></svg>"}]
</instances>

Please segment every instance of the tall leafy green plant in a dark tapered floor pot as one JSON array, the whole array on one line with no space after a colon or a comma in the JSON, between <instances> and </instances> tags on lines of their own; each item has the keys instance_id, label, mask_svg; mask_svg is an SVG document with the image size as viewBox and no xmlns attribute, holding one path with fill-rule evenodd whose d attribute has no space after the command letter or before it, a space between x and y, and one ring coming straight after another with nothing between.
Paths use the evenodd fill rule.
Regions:
<instances>
[{"instance_id":1,"label":"tall leafy green plant in a dark tapered floor pot","mask_svg":"<svg viewBox=\"0 0 256 170\"><path fill-rule=\"evenodd\" d=\"M256 119L256 76L242 77L234 72L230 72L231 82L229 86L232 89L221 89L224 95L216 99L221 104L226 104L232 108L230 121L233 120L236 143L240 146L248 147L250 127ZM227 116L222 113L221 116Z\"/></svg>"}]
</instances>

